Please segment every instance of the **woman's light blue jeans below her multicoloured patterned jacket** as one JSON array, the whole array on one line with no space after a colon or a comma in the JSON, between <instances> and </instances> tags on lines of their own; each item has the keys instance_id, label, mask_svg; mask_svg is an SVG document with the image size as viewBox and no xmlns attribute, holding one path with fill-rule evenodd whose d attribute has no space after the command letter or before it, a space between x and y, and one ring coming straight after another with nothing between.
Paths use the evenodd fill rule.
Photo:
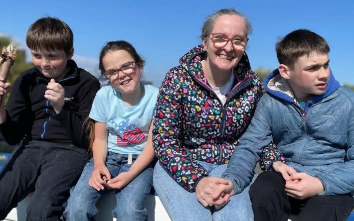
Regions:
<instances>
[{"instance_id":1,"label":"woman's light blue jeans below her multicoloured patterned jacket","mask_svg":"<svg viewBox=\"0 0 354 221\"><path fill-rule=\"evenodd\" d=\"M227 164L196 162L212 177L220 177L227 169ZM228 204L220 210L214 207L205 208L196 199L195 192L190 193L180 187L158 162L154 170L154 188L173 221L253 221L249 186L243 192L232 196Z\"/></svg>"}]
</instances>

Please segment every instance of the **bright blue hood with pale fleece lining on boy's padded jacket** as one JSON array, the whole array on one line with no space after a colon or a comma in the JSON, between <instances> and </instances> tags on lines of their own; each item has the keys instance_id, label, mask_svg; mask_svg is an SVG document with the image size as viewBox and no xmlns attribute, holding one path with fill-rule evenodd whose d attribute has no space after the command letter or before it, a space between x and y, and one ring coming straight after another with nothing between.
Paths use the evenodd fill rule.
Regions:
<instances>
[{"instance_id":1,"label":"bright blue hood with pale fleece lining on boy's padded jacket","mask_svg":"<svg viewBox=\"0 0 354 221\"><path fill-rule=\"evenodd\" d=\"M264 79L263 86L268 93L275 97L278 97L291 103L293 103L295 100L295 95L291 90L288 81L280 76L278 69L272 71ZM332 70L330 70L330 79L325 89L325 93L323 93L322 95L314 96L311 100L309 100L309 102L315 104L321 101L322 99L327 98L333 92L335 92L339 88L339 86L339 82L333 76Z\"/></svg>"}]
</instances>

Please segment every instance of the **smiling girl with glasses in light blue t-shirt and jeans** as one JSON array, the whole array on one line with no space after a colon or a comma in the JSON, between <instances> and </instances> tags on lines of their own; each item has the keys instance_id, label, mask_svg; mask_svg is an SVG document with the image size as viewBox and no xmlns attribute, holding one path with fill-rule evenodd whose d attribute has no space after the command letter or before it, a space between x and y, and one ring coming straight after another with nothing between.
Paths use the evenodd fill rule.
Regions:
<instances>
[{"instance_id":1,"label":"smiling girl with glasses in light blue t-shirt and jeans","mask_svg":"<svg viewBox=\"0 0 354 221\"><path fill-rule=\"evenodd\" d=\"M89 115L93 157L70 198L67 221L93 220L96 202L115 191L117 220L146 220L144 201L153 184L152 119L158 89L144 85L145 61L126 41L108 42L99 68L110 84L101 88Z\"/></svg>"}]
</instances>

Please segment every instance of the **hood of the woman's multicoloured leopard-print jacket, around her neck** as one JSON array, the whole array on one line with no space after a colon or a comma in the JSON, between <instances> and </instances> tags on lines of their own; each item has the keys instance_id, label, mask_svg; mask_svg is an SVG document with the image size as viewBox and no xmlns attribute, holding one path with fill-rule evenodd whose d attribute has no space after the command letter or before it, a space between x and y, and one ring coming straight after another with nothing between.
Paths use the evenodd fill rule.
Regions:
<instances>
[{"instance_id":1,"label":"hood of the woman's multicoloured leopard-print jacket, around her neck","mask_svg":"<svg viewBox=\"0 0 354 221\"><path fill-rule=\"evenodd\" d=\"M204 75L201 71L202 69L201 61L204 60L205 58L206 58L206 51L204 50L203 45L198 45L192 48L190 51L188 51L185 55L183 55L179 59L179 63L185 70L187 70L187 72L190 75L194 75L196 78L204 80ZM251 65L249 63L246 52L244 52L243 56L241 57L241 60L235 66L234 73L236 73L238 77L254 74L251 71Z\"/></svg>"}]
</instances>

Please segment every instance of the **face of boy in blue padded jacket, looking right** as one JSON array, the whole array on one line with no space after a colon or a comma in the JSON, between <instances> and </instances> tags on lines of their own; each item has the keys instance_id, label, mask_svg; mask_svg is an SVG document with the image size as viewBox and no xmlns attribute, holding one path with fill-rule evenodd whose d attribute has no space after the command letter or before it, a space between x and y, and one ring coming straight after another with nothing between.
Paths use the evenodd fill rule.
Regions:
<instances>
[{"instance_id":1,"label":"face of boy in blue padded jacket, looking right","mask_svg":"<svg viewBox=\"0 0 354 221\"><path fill-rule=\"evenodd\" d=\"M328 54L304 55L298 58L293 69L286 66L288 73L282 77L288 80L298 100L308 101L313 96L322 95L325 92L330 78L329 62ZM280 69L281 66L279 66Z\"/></svg>"}]
</instances>

